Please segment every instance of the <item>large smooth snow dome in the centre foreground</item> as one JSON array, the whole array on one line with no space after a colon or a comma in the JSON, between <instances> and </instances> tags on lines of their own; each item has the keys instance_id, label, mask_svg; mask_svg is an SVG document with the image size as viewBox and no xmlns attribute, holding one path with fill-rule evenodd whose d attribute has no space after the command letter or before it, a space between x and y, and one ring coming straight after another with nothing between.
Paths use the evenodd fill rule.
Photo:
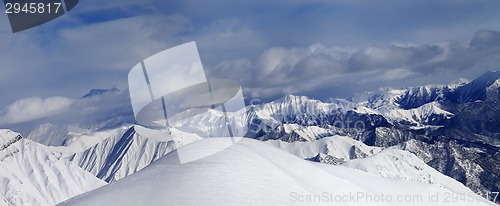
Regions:
<instances>
[{"instance_id":1,"label":"large smooth snow dome in the centre foreground","mask_svg":"<svg viewBox=\"0 0 500 206\"><path fill-rule=\"evenodd\" d=\"M183 154L211 154L221 142L220 138L210 138L180 150ZM172 152L131 176L61 205L401 205L401 202L363 199L334 202L334 198L308 202L306 196L414 194L422 195L422 200L426 201L429 194L461 191L460 188L380 178L338 167L341 166L319 166L263 142L242 139L219 153L186 164L179 163L177 151ZM356 179L351 179L353 173ZM359 179L364 181L359 182ZM474 202L445 203L441 200L434 205L494 205L474 198L477 198ZM429 203L410 201L404 205Z\"/></svg>"}]
</instances>

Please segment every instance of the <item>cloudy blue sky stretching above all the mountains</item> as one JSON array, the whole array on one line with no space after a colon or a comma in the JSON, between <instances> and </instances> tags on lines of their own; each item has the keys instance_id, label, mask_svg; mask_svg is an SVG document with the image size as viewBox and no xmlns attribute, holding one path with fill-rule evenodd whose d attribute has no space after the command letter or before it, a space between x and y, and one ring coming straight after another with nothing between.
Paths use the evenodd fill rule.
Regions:
<instances>
[{"instance_id":1,"label":"cloudy blue sky stretching above all the mountains","mask_svg":"<svg viewBox=\"0 0 500 206\"><path fill-rule=\"evenodd\" d=\"M82 0L15 34L0 15L0 116L56 107L43 117L92 88L126 89L137 62L189 41L209 76L239 80L247 98L473 79L500 67L499 10L497 0Z\"/></svg>"}]
</instances>

